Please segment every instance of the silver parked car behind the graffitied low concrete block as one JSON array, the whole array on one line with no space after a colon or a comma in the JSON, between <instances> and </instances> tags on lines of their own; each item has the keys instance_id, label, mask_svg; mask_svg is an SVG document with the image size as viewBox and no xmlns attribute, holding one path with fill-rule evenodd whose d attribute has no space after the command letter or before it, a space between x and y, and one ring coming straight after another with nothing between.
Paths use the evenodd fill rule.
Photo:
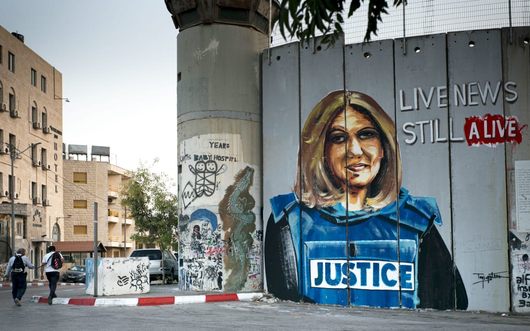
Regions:
<instances>
[{"instance_id":1,"label":"silver parked car behind the graffitied low concrete block","mask_svg":"<svg viewBox=\"0 0 530 331\"><path fill-rule=\"evenodd\" d=\"M149 257L149 279L162 279L162 251L158 248L135 249L130 257ZM170 251L164 251L164 274L179 279L179 262Z\"/></svg>"}]
</instances>

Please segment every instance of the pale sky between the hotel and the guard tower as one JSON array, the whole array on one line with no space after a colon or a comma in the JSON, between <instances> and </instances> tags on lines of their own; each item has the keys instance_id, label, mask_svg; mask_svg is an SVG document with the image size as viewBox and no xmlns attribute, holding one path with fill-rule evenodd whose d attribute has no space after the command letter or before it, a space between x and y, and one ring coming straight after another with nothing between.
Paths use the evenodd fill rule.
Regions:
<instances>
[{"instance_id":1,"label":"pale sky between the hotel and the guard tower","mask_svg":"<svg viewBox=\"0 0 530 331\"><path fill-rule=\"evenodd\" d=\"M108 146L129 170L158 158L152 170L176 181L178 30L164 1L0 4L0 25L63 74L63 142Z\"/></svg>"}]
</instances>

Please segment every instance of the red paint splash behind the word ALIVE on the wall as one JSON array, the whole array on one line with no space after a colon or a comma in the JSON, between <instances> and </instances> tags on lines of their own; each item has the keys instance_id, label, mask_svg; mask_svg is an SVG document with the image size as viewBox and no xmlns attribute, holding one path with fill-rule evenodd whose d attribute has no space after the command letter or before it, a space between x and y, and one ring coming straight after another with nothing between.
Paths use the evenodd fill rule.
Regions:
<instances>
[{"instance_id":1,"label":"red paint splash behind the word ALIVE on the wall","mask_svg":"<svg viewBox=\"0 0 530 331\"><path fill-rule=\"evenodd\" d=\"M503 142L520 144L523 141L521 131L528 124L521 125L515 116L485 114L484 117L472 116L465 119L464 133L467 145L496 146Z\"/></svg>"}]
</instances>

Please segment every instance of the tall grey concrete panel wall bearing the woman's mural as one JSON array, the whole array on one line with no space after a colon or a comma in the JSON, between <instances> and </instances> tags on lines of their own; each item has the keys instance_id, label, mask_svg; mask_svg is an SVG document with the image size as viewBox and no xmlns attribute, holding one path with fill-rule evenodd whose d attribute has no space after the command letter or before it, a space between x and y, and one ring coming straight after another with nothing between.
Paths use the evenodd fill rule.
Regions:
<instances>
[{"instance_id":1,"label":"tall grey concrete panel wall bearing the woman's mural","mask_svg":"<svg viewBox=\"0 0 530 331\"><path fill-rule=\"evenodd\" d=\"M265 289L530 313L530 29L263 53Z\"/></svg>"}]
</instances>

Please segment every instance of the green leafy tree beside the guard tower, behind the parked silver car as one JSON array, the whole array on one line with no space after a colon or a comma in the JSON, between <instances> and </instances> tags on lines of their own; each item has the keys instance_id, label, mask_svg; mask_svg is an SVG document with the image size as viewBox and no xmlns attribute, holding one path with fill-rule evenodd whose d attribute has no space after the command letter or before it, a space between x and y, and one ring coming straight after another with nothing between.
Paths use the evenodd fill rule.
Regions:
<instances>
[{"instance_id":1,"label":"green leafy tree beside the guard tower, behind the parked silver car","mask_svg":"<svg viewBox=\"0 0 530 331\"><path fill-rule=\"evenodd\" d=\"M135 220L136 234L131 239L138 243L156 244L163 252L178 243L178 195L172 193L175 184L169 176L152 172L157 162L158 159L155 159L151 166L140 163L131 173L129 182L123 187L121 204L127 207L127 212ZM164 268L162 282L165 283Z\"/></svg>"}]
</instances>

